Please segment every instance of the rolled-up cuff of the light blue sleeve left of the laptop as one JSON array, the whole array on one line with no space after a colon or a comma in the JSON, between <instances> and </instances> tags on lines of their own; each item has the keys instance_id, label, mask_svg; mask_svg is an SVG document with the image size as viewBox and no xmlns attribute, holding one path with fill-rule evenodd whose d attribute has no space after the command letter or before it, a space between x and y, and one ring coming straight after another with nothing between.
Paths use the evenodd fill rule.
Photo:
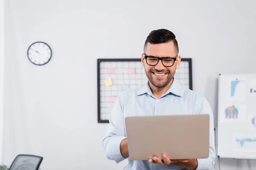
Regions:
<instances>
[{"instance_id":1,"label":"rolled-up cuff of the light blue sleeve left of the laptop","mask_svg":"<svg viewBox=\"0 0 256 170\"><path fill-rule=\"evenodd\" d=\"M115 136L112 140L112 148L111 148L111 153L112 153L112 157L114 159L114 161L116 161L116 163L119 163L120 161L125 160L126 158L124 158L121 154L121 150L120 150L120 144L122 142L123 139L125 139L126 137L124 136Z\"/></svg>"}]
</instances>

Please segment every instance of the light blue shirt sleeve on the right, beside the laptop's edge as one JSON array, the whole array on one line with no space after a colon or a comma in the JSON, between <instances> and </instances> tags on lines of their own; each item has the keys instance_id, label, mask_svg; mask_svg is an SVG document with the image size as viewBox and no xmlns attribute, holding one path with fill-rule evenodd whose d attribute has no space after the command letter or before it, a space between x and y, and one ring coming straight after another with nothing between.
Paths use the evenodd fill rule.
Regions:
<instances>
[{"instance_id":1,"label":"light blue shirt sleeve on the right, beside the laptop's edge","mask_svg":"<svg viewBox=\"0 0 256 170\"><path fill-rule=\"evenodd\" d=\"M209 105L209 102L206 98L202 98L202 101L199 103L198 114L209 114L210 116L210 127L209 127L209 157L207 159L197 159L198 167L196 170L209 170L215 164L215 137L214 137L214 121L212 109Z\"/></svg>"}]
</instances>

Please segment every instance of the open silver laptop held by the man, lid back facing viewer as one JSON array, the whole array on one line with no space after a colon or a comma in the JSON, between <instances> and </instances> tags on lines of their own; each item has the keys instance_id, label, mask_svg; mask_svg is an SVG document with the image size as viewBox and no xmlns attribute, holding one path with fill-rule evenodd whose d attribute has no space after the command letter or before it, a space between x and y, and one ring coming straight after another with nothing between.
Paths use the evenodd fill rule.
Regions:
<instances>
[{"instance_id":1,"label":"open silver laptop held by the man, lid back facing viewer","mask_svg":"<svg viewBox=\"0 0 256 170\"><path fill-rule=\"evenodd\" d=\"M125 128L131 160L209 157L209 114L130 116Z\"/></svg>"}]
</instances>

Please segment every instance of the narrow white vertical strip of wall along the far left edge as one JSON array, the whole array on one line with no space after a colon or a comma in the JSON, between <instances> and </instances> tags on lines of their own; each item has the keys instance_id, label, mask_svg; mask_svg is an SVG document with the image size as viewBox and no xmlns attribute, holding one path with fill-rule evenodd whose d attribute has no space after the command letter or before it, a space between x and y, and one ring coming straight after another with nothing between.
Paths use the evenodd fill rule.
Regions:
<instances>
[{"instance_id":1,"label":"narrow white vertical strip of wall along the far left edge","mask_svg":"<svg viewBox=\"0 0 256 170\"><path fill-rule=\"evenodd\" d=\"M3 0L0 0L0 164L2 163L3 151L3 61L4 61L4 12Z\"/></svg>"}]
</instances>

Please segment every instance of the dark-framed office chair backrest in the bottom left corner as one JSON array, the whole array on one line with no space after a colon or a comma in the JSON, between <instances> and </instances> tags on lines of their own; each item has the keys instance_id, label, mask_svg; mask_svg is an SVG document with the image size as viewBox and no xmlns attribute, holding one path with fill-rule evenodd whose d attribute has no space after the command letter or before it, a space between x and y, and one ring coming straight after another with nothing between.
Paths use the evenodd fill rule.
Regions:
<instances>
[{"instance_id":1,"label":"dark-framed office chair backrest in the bottom left corner","mask_svg":"<svg viewBox=\"0 0 256 170\"><path fill-rule=\"evenodd\" d=\"M43 157L41 156L18 155L9 170L38 170L42 160Z\"/></svg>"}]
</instances>

